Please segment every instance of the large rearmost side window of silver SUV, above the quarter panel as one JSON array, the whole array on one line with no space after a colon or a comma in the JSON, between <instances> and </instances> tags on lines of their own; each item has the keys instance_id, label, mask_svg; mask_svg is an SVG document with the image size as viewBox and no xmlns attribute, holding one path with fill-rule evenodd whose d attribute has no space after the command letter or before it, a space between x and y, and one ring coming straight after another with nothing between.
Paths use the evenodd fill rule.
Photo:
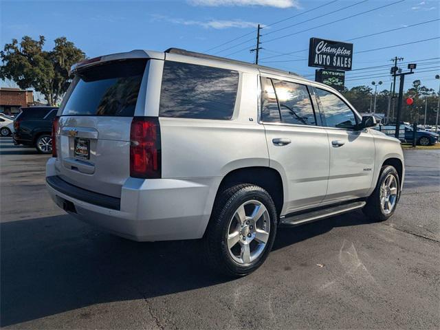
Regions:
<instances>
[{"instance_id":1,"label":"large rearmost side window of silver SUV, above the quarter panel","mask_svg":"<svg viewBox=\"0 0 440 330\"><path fill-rule=\"evenodd\" d=\"M165 61L159 115L228 120L238 86L236 71Z\"/></svg>"}]
</instances>

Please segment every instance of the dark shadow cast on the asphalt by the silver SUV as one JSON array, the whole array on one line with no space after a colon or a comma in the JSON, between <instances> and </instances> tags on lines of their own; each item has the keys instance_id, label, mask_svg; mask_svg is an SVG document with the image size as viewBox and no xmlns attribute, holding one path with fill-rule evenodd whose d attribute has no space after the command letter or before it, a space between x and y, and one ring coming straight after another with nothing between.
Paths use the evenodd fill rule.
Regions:
<instances>
[{"instance_id":1,"label":"dark shadow cast on the asphalt by the silver SUV","mask_svg":"<svg viewBox=\"0 0 440 330\"><path fill-rule=\"evenodd\" d=\"M283 228L274 250L336 226L368 222L355 212ZM0 234L1 327L98 303L146 299L233 281L203 266L198 240L133 242L67 214L1 223Z\"/></svg>"}]
</instances>

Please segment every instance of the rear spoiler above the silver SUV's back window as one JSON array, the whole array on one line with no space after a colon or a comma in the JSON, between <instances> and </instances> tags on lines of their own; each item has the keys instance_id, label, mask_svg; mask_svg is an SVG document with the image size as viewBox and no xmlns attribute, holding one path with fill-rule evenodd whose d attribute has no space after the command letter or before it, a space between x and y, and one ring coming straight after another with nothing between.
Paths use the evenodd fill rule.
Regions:
<instances>
[{"instance_id":1,"label":"rear spoiler above the silver SUV's back window","mask_svg":"<svg viewBox=\"0 0 440 330\"><path fill-rule=\"evenodd\" d=\"M94 58L87 58L84 61L72 65L69 74L74 74L78 69L81 69L83 67L90 67L92 65L98 65L104 62L120 61L131 58L155 58L157 60L164 60L165 54L164 52L154 52L151 50L132 50L131 52L116 53L116 54L98 56Z\"/></svg>"}]
</instances>

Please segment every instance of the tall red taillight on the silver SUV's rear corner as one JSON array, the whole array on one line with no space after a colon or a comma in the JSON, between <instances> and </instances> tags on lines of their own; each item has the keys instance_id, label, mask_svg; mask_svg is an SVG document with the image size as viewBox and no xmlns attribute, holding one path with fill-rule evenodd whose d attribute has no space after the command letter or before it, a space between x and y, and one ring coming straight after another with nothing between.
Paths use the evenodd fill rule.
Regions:
<instances>
[{"instance_id":1,"label":"tall red taillight on the silver SUV's rear corner","mask_svg":"<svg viewBox=\"0 0 440 330\"><path fill-rule=\"evenodd\" d=\"M161 176L160 126L155 117L134 117L130 131L130 176Z\"/></svg>"}]
</instances>

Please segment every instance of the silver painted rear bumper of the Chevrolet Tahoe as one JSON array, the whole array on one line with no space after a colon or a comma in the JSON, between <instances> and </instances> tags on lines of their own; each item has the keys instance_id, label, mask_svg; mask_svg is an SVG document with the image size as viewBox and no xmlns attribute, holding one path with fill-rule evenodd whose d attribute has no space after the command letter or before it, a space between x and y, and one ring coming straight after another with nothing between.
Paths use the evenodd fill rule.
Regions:
<instances>
[{"instance_id":1,"label":"silver painted rear bumper of the Chevrolet Tahoe","mask_svg":"<svg viewBox=\"0 0 440 330\"><path fill-rule=\"evenodd\" d=\"M215 198L212 187L221 180L130 177L116 199L67 184L56 177L54 162L46 164L46 186L58 206L60 199L69 201L74 208L65 210L72 216L134 241L201 238Z\"/></svg>"}]
</instances>

